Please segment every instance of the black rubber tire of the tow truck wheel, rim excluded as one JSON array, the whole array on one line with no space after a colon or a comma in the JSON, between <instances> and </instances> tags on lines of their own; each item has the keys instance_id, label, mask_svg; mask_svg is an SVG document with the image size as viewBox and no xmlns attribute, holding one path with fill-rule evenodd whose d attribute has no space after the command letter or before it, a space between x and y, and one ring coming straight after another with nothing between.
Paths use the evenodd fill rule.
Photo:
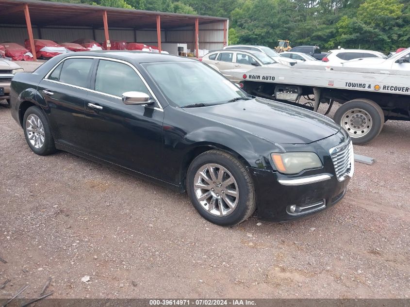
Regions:
<instances>
[{"instance_id":1,"label":"black rubber tire of the tow truck wheel, rim excluded","mask_svg":"<svg viewBox=\"0 0 410 307\"><path fill-rule=\"evenodd\" d=\"M349 110L353 109L361 109L364 112L367 112L368 115L370 115L371 120L372 120L372 126L370 130L363 136L356 136L352 135L349 131L349 135L351 136L353 144L357 145L362 145L369 143L372 141L377 135L380 133L381 129L383 128L384 124L384 113L383 110L381 110L380 106L370 100L370 99L365 99L365 98L359 98L359 99L353 99L350 101L345 102L342 104L339 109L336 110L333 119L334 121L344 127L344 114L348 112Z\"/></svg>"}]
</instances>

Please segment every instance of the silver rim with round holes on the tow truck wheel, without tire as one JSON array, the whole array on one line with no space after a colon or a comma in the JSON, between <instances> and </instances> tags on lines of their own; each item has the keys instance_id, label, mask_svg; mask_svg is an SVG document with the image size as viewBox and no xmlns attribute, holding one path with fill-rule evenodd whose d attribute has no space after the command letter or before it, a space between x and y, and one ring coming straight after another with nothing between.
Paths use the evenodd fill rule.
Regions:
<instances>
[{"instance_id":1,"label":"silver rim with round holes on the tow truck wheel, without tire","mask_svg":"<svg viewBox=\"0 0 410 307\"><path fill-rule=\"evenodd\" d=\"M366 135L372 129L372 117L362 109L352 109L343 114L340 126L352 138Z\"/></svg>"}]
</instances>

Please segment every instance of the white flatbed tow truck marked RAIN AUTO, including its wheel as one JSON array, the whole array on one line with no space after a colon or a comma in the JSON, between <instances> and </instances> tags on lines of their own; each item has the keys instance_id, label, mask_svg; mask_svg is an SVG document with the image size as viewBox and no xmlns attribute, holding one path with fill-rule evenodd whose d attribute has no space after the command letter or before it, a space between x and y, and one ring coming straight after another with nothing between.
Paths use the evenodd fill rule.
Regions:
<instances>
[{"instance_id":1,"label":"white flatbed tow truck marked RAIN AUTO, including its wheel","mask_svg":"<svg viewBox=\"0 0 410 307\"><path fill-rule=\"evenodd\" d=\"M410 66L410 63L409 63ZM317 112L321 103L342 106L333 119L354 144L373 140L389 120L410 120L410 71L325 65L270 65L224 71L249 94ZM311 96L314 96L311 97ZM307 97L310 103L300 102Z\"/></svg>"}]
</instances>

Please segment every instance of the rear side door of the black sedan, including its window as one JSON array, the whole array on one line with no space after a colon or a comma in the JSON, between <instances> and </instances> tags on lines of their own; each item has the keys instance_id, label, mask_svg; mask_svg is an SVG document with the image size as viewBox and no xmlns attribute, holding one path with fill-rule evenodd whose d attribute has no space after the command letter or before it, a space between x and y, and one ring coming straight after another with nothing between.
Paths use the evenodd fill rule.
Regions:
<instances>
[{"instance_id":1,"label":"rear side door of the black sedan, including its window","mask_svg":"<svg viewBox=\"0 0 410 307\"><path fill-rule=\"evenodd\" d=\"M56 65L40 82L37 97L48 114L54 140L83 150L84 103L90 88L92 58L67 58Z\"/></svg>"}]
</instances>

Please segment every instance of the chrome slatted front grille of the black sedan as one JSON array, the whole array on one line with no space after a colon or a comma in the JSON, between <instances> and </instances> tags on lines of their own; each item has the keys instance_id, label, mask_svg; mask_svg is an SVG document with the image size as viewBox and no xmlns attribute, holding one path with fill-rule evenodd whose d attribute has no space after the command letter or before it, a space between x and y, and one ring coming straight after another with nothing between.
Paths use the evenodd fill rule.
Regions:
<instances>
[{"instance_id":1,"label":"chrome slatted front grille of the black sedan","mask_svg":"<svg viewBox=\"0 0 410 307\"><path fill-rule=\"evenodd\" d=\"M330 156L339 181L343 181L346 176L352 177L354 171L353 144L349 140L337 145L329 150Z\"/></svg>"}]
</instances>

